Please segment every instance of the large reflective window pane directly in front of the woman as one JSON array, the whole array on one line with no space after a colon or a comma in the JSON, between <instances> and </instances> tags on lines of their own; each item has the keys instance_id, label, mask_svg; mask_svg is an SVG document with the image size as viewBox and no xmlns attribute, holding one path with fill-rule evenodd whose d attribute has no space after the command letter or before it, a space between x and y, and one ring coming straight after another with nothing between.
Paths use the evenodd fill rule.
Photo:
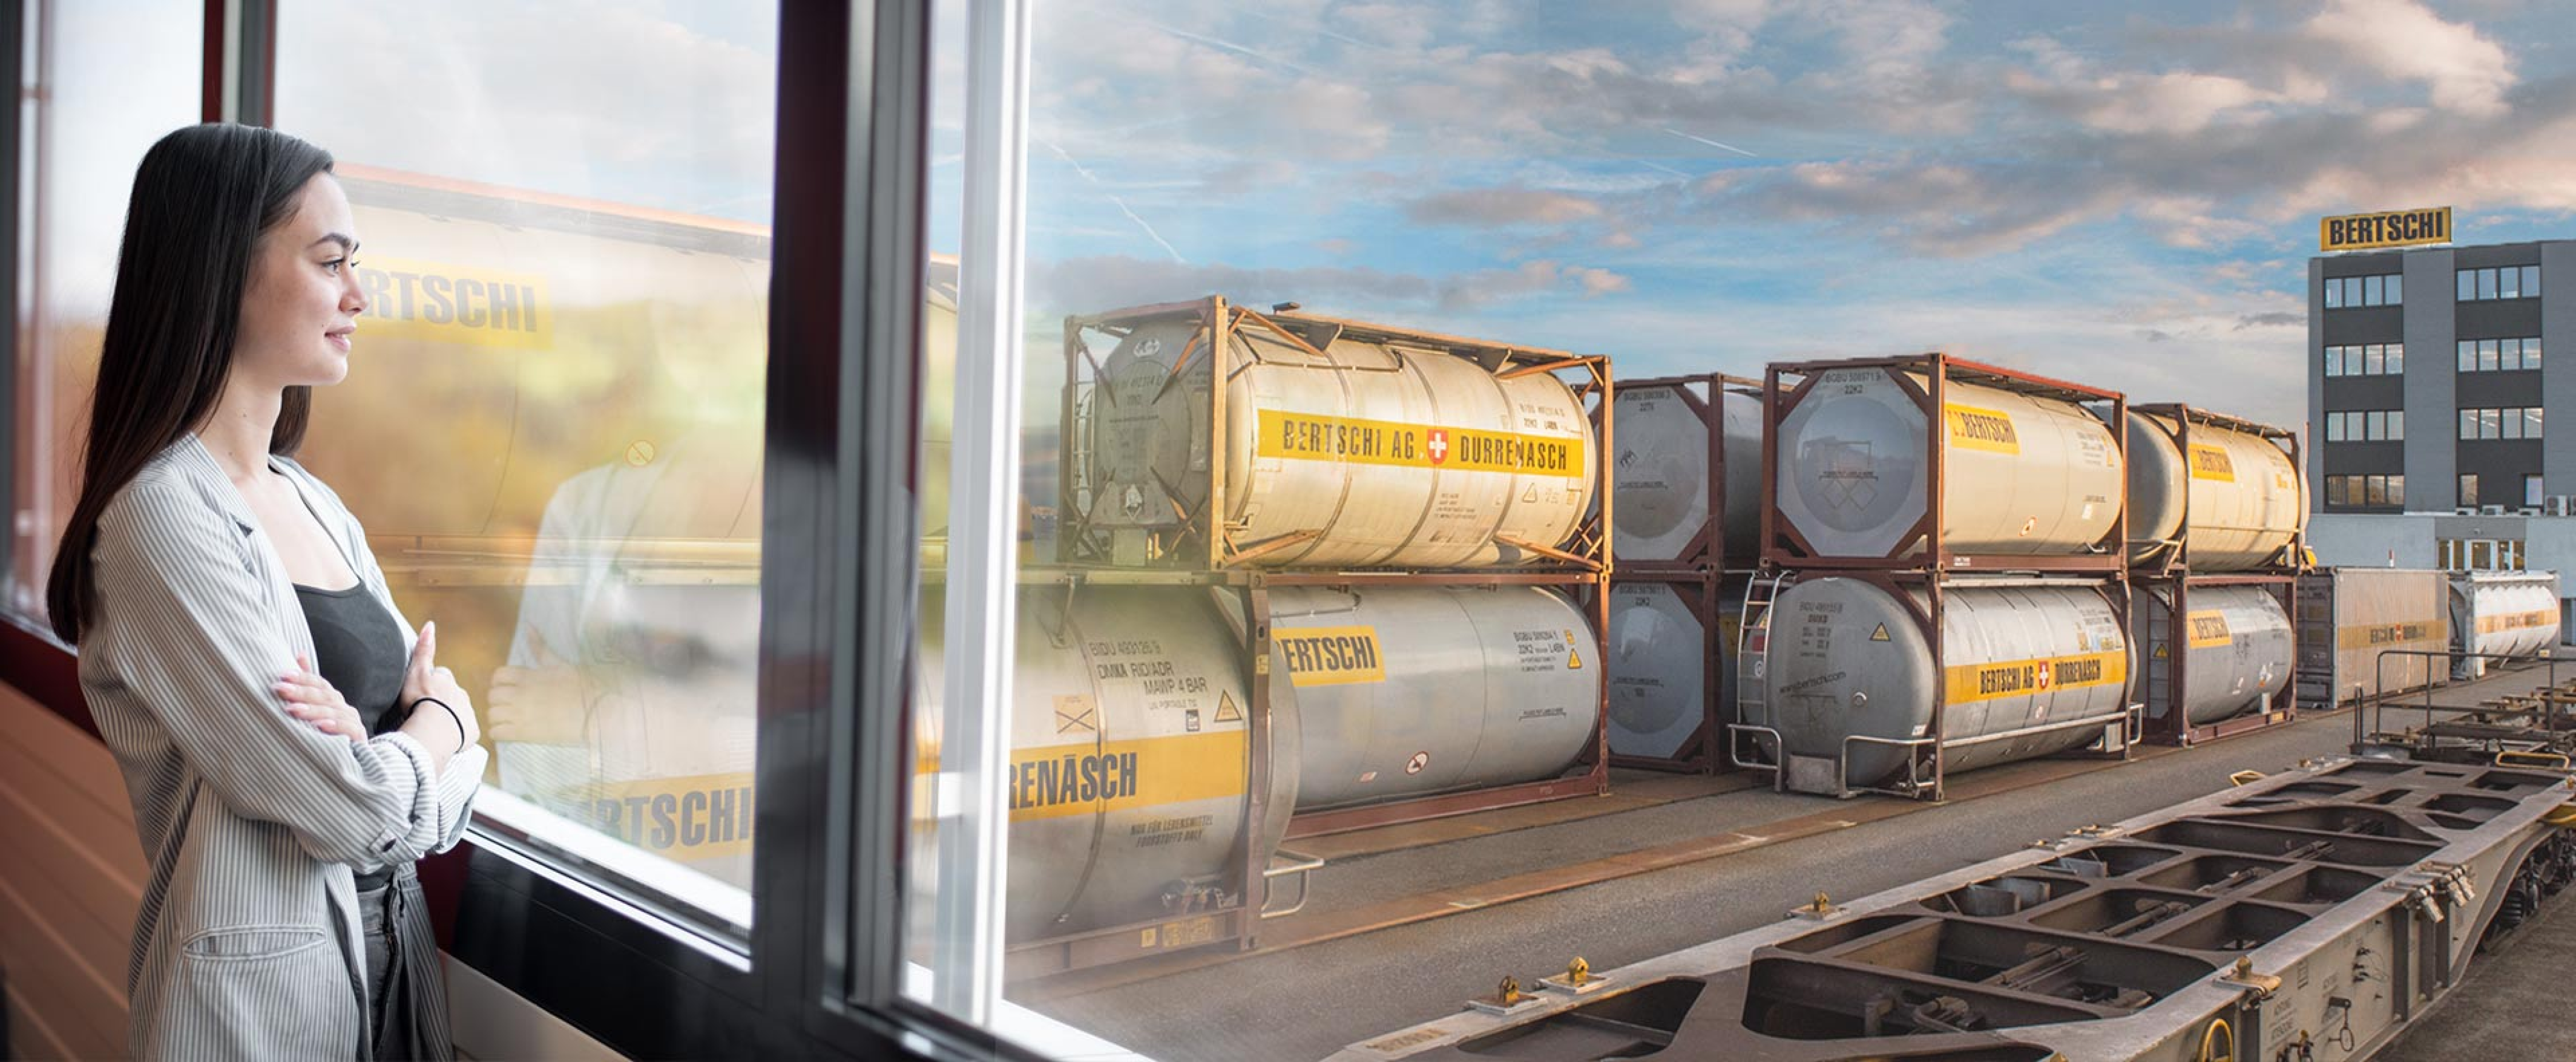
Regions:
<instances>
[{"instance_id":1,"label":"large reflective window pane directly in front of the woman","mask_svg":"<svg viewBox=\"0 0 2576 1062\"><path fill-rule=\"evenodd\" d=\"M734 928L775 36L770 5L278 3L276 124L337 155L368 294L304 461L482 696L479 812Z\"/></svg>"}]
</instances>

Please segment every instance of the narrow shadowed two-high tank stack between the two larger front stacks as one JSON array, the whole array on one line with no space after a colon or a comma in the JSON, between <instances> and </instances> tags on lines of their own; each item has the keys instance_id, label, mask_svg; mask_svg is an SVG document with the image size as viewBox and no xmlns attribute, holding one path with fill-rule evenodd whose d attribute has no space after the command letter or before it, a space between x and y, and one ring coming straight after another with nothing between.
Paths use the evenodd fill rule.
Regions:
<instances>
[{"instance_id":1,"label":"narrow shadowed two-high tank stack between the two larger front stacks","mask_svg":"<svg viewBox=\"0 0 2576 1062\"><path fill-rule=\"evenodd\" d=\"M1610 763L1713 773L1736 722L1734 657L1762 510L1762 381L1620 381L1615 412Z\"/></svg>"}]
</instances>

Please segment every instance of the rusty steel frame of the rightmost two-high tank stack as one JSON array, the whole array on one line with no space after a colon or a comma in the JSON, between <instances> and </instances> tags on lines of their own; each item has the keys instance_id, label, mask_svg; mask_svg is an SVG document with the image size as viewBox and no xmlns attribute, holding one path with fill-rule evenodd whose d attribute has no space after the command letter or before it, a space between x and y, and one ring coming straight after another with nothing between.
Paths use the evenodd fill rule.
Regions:
<instances>
[{"instance_id":1,"label":"rusty steel frame of the rightmost two-high tank stack","mask_svg":"<svg viewBox=\"0 0 2576 1062\"><path fill-rule=\"evenodd\" d=\"M2236 433L2246 433L2246 436L2262 436L2262 438L2272 441L2272 446L2285 449L2290 454L2290 469L2295 469L2298 485L2300 485L2298 487L2298 492L2300 492L2298 505L2300 505L2300 510L2306 510L2308 508L2308 479L2306 479L2308 477L2308 472L2306 472L2308 467L2306 467L2306 454L2300 451L2300 443L2298 443L2298 433L2295 430L2285 430L2285 428L2262 425L2262 423L2244 420L2244 418L2231 418L2226 412L2197 410L2197 407L2190 407L2190 405L2182 405L2182 402L2138 405L2138 407L2130 407L2130 412L2148 412L2148 415L2159 415L2159 418L2174 420L2174 449L2182 451L2182 464L2184 464L2182 539L2179 541L2164 541L2164 544L2159 544L2156 557L2151 557L2146 565L2138 565L2138 567L2133 567L2128 572L2130 583L2138 583L2138 593L2156 593L2159 588L2164 588L2172 595L2172 608L2164 616L2166 626L2161 632L2141 632L2141 634L2146 634L2146 639L2151 644L2156 639L2161 639L2164 644L2172 644L2177 650L2169 652L2166 660L2161 660L2161 662L2159 660L2148 660L2146 668L2141 668L2141 681L2146 681L2143 673L2148 668L2156 668L2156 670L2164 670L2164 688L2169 691L2166 696L2179 699L2190 688L2187 686L2187 681L2190 681L2190 660L2187 657L2190 657L2190 593L2192 593L2192 588L2223 588L2223 585L2257 585L2257 588L2264 588L2264 593L2269 593L2272 598L2280 601L2282 616L2290 619L2290 642L2293 642L2290 644L2287 686L2282 686L2282 693L2272 704L2264 704L2259 711L2249 711L2249 714L2239 714L2233 719L2218 719L2218 722L2208 722L2208 724L2192 724L2190 714L2182 711L2179 704L2174 704L2172 711L2164 714L2164 719L2156 719L2156 717L2146 719L2146 740L2161 742L2161 745L2200 745L2200 742L2213 742L2213 740L2221 740L2221 737L2233 737L2233 735L2246 735L2246 732L2257 732L2257 729L2269 729L2269 727L2282 727L2282 724L2298 722L2298 575L2306 570L2306 559L2308 559L2308 526L2306 526L2306 518L2300 521L2298 534L2290 536L2290 544L2280 549L2280 554L2269 557L2264 565L2259 565L2254 570L2246 570L2246 572L2195 575L2195 565L2192 565L2192 534L2190 534L2190 528L2192 528L2192 490L2190 490L2192 425L2208 425L2208 428L2223 428L2223 430L2236 430ZM2141 699L2143 699L2143 693L2141 693Z\"/></svg>"}]
</instances>

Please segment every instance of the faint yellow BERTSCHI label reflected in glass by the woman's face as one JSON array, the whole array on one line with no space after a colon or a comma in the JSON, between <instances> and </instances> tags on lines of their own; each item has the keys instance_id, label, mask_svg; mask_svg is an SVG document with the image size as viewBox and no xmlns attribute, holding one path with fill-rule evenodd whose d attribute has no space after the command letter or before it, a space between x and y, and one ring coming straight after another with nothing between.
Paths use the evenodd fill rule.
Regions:
<instances>
[{"instance_id":1,"label":"faint yellow BERTSCHI label reflected in glass by the woman's face","mask_svg":"<svg viewBox=\"0 0 2576 1062\"><path fill-rule=\"evenodd\" d=\"M551 348L554 296L531 273L482 266L363 258L358 289L366 314L358 343L402 338L428 343Z\"/></svg>"}]
</instances>

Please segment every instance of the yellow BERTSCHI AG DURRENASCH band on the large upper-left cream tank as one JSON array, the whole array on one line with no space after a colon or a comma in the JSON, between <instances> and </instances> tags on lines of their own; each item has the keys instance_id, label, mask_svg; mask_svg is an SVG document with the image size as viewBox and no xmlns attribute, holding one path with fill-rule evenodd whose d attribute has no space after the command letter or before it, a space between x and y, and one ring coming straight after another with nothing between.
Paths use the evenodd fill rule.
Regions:
<instances>
[{"instance_id":1,"label":"yellow BERTSCHI AG DURRENASCH band on the large upper-left cream tank","mask_svg":"<svg viewBox=\"0 0 2576 1062\"><path fill-rule=\"evenodd\" d=\"M1262 410L1260 446L1255 451L1293 461L1522 472L1569 479L1584 474L1584 441L1579 436L1522 436L1489 428L1321 418L1288 410Z\"/></svg>"}]
</instances>

